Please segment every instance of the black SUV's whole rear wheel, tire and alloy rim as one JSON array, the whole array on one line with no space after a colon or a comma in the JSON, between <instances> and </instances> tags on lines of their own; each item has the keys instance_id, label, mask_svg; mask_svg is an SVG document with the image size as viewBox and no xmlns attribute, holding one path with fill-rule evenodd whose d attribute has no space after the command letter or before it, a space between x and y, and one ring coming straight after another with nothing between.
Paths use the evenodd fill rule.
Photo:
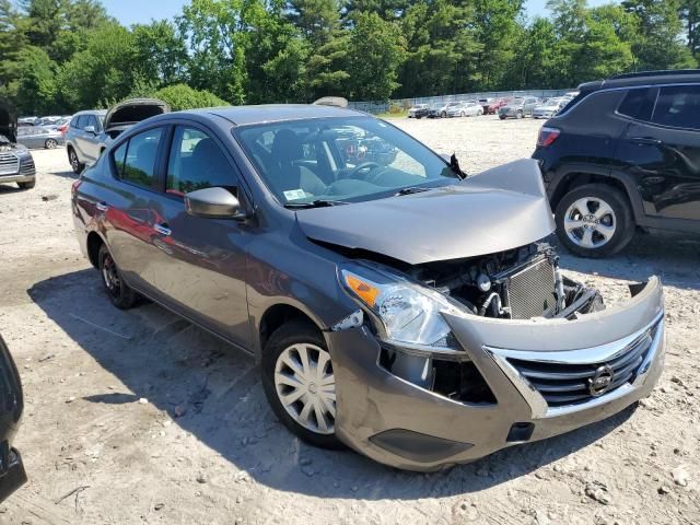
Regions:
<instances>
[{"instance_id":1,"label":"black SUV's whole rear wheel, tire and alloy rim","mask_svg":"<svg viewBox=\"0 0 700 525\"><path fill-rule=\"evenodd\" d=\"M586 184L569 191L557 205L555 221L561 243L581 257L615 255L635 230L627 196L607 184Z\"/></svg>"}]
</instances>

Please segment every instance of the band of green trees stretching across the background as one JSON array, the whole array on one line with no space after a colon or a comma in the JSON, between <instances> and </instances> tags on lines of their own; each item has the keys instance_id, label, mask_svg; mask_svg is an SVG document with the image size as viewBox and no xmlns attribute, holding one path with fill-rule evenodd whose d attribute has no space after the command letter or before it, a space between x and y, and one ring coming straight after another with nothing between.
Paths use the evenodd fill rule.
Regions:
<instances>
[{"instance_id":1,"label":"band of green trees stretching across the background","mask_svg":"<svg viewBox=\"0 0 700 525\"><path fill-rule=\"evenodd\" d=\"M0 0L0 96L24 114L574 88L698 67L700 0L190 0L129 28L100 0Z\"/></svg>"}]
</instances>

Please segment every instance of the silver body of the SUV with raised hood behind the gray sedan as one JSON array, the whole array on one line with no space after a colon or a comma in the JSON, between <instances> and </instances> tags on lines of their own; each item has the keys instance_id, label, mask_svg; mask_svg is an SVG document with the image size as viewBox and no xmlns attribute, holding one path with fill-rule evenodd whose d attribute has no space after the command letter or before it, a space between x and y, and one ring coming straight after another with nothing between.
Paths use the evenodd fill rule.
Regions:
<instances>
[{"instance_id":1,"label":"silver body of the SUV with raised hood behind the gray sedan","mask_svg":"<svg viewBox=\"0 0 700 525\"><path fill-rule=\"evenodd\" d=\"M100 136L104 131L103 121L107 112L90 109L79 112L70 120L66 130L66 152L74 173L81 173L85 165L93 164L102 153Z\"/></svg>"}]
</instances>

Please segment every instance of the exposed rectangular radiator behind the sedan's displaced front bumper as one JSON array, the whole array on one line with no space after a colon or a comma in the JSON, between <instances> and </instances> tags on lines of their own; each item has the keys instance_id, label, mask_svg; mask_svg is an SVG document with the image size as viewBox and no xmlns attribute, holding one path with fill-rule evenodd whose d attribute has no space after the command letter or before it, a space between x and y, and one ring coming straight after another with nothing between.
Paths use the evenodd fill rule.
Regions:
<instances>
[{"instance_id":1,"label":"exposed rectangular radiator behind the sedan's displaced front bumper","mask_svg":"<svg viewBox=\"0 0 700 525\"><path fill-rule=\"evenodd\" d=\"M555 298L555 267L544 258L509 276L505 280L505 300L511 318L529 319L552 314Z\"/></svg>"}]
</instances>

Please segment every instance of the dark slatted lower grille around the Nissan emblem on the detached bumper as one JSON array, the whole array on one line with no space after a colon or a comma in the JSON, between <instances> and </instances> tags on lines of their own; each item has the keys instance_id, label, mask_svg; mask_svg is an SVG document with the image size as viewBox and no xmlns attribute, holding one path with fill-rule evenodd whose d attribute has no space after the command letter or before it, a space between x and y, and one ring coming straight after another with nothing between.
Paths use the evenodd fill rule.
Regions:
<instances>
[{"instance_id":1,"label":"dark slatted lower grille around the Nissan emblem on the detached bumper","mask_svg":"<svg viewBox=\"0 0 700 525\"><path fill-rule=\"evenodd\" d=\"M645 331L607 362L564 364L510 358L508 361L539 392L550 407L578 405L614 392L626 383L632 383L651 349L657 329L658 325ZM610 374L609 385L604 392L594 394L592 383L605 368L609 368L606 369L606 374Z\"/></svg>"}]
</instances>

